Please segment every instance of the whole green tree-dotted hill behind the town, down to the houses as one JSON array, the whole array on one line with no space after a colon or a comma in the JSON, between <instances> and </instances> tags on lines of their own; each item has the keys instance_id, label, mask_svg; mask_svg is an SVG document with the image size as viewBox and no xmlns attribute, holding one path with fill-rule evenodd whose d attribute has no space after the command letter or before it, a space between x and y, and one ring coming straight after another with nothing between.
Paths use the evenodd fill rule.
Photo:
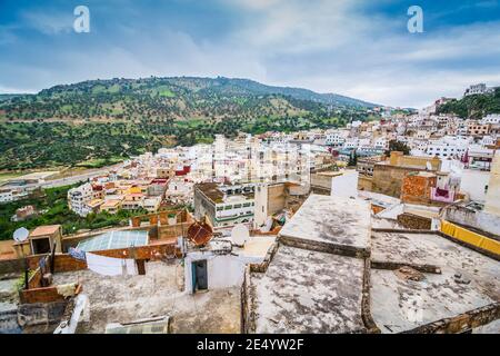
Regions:
<instances>
[{"instance_id":1,"label":"whole green tree-dotted hill behind the town, down to the houses","mask_svg":"<svg viewBox=\"0 0 500 356\"><path fill-rule=\"evenodd\" d=\"M0 171L98 167L216 134L341 127L372 105L246 79L90 80L0 100Z\"/></svg>"}]
</instances>

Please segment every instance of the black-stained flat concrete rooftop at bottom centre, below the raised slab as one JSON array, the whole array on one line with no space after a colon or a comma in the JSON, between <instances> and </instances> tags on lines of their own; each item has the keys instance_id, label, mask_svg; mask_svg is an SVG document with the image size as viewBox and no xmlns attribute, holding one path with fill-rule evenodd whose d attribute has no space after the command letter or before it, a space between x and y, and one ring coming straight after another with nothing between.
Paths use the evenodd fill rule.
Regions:
<instances>
[{"instance_id":1,"label":"black-stained flat concrete rooftop at bottom centre, below the raised slab","mask_svg":"<svg viewBox=\"0 0 500 356\"><path fill-rule=\"evenodd\" d=\"M363 260L280 246L252 273L256 333L353 333L361 318Z\"/></svg>"}]
</instances>

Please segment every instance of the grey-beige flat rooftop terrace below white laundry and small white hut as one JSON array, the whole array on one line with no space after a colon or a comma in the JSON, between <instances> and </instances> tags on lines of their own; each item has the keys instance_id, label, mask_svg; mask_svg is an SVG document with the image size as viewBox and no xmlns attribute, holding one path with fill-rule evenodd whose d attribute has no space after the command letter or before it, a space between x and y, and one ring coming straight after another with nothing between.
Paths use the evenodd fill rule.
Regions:
<instances>
[{"instance_id":1,"label":"grey-beige flat rooftop terrace below white laundry and small white hut","mask_svg":"<svg viewBox=\"0 0 500 356\"><path fill-rule=\"evenodd\" d=\"M53 275L53 284L78 281L89 296L90 323L77 333L104 333L109 323L170 316L171 333L240 333L240 288L190 295L183 267L176 261L146 265L144 276L101 276L89 269ZM209 312L209 313L208 313Z\"/></svg>"}]
</instances>

